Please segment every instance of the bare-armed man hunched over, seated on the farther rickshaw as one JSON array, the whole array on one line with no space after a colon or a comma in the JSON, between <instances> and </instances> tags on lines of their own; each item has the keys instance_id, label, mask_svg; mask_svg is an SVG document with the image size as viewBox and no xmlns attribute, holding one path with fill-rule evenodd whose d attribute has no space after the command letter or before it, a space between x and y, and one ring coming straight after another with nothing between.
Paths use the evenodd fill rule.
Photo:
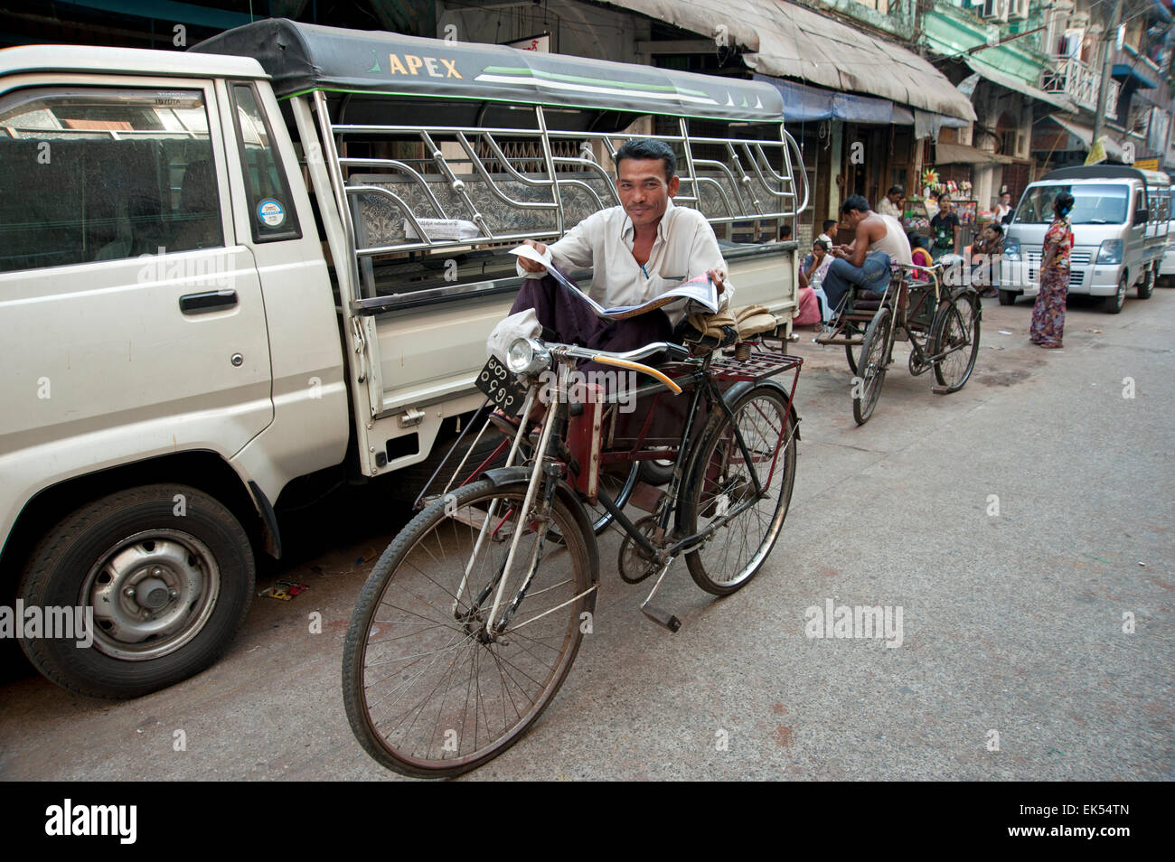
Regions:
<instances>
[{"instance_id":1,"label":"bare-armed man hunched over, seated on the farther rickshaw","mask_svg":"<svg viewBox=\"0 0 1175 862\"><path fill-rule=\"evenodd\" d=\"M901 222L871 210L864 196L845 198L840 215L853 231L853 241L832 250L837 260L824 276L824 292L833 309L840 307L851 284L880 292L889 283L891 261L912 262Z\"/></svg>"}]
</instances>

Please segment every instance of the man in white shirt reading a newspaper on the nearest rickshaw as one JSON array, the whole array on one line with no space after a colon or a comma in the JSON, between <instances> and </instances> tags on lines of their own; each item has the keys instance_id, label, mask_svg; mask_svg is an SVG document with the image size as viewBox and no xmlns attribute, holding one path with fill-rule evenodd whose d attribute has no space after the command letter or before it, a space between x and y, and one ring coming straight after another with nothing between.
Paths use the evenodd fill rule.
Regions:
<instances>
[{"instance_id":1,"label":"man in white shirt reading a newspaper on the nearest rickshaw","mask_svg":"<svg viewBox=\"0 0 1175 862\"><path fill-rule=\"evenodd\" d=\"M667 144L638 140L620 147L616 190L622 206L584 218L550 245L526 241L544 263L518 258L518 274L525 281L510 316L490 334L490 352L503 357L516 338L537 337L599 350L633 350L650 342L674 341L674 326L687 314L710 310L677 301L625 319L606 319L548 275L549 264L563 270L592 267L585 292L605 309L639 305L683 280L709 274L718 291L718 308L726 309L733 288L726 281L718 240L701 213L673 206L679 184L677 157Z\"/></svg>"}]
</instances>

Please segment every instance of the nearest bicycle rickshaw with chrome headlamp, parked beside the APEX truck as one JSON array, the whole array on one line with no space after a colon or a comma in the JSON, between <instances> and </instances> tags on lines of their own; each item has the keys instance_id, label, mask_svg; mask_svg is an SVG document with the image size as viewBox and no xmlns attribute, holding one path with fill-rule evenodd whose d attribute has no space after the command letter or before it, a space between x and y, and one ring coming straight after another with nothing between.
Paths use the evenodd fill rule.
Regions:
<instances>
[{"instance_id":1,"label":"nearest bicycle rickshaw with chrome headlamp, parked beside the APEX truck","mask_svg":"<svg viewBox=\"0 0 1175 862\"><path fill-rule=\"evenodd\" d=\"M546 395L540 431L529 435L523 422L504 438L509 451L469 469L475 440L372 570L347 633L343 691L351 728L375 760L408 775L452 776L525 733L590 631L596 533L609 523L624 536L620 577L653 579L640 610L670 631L679 620L652 601L678 557L716 595L754 577L791 500L803 361L753 343L757 352L744 341L732 355L666 342L607 353L518 339L509 368L486 363L479 415L521 403L526 417ZM638 362L653 355L667 361ZM598 388L570 403L570 376L584 359L643 375L636 410L623 412L617 393ZM548 372L556 383L544 392ZM788 385L774 379L786 372ZM486 425L466 430L479 426L481 437ZM666 459L667 487L643 486L650 513L633 523L624 506L639 463ZM442 471L444 463L434 479Z\"/></svg>"}]
</instances>

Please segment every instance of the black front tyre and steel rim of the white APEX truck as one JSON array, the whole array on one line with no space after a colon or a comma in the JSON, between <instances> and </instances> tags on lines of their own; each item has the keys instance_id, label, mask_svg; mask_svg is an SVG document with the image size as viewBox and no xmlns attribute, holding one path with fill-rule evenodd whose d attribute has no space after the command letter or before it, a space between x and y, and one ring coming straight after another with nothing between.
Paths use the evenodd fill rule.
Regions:
<instances>
[{"instance_id":1,"label":"black front tyre and steel rim of the white APEX truck","mask_svg":"<svg viewBox=\"0 0 1175 862\"><path fill-rule=\"evenodd\" d=\"M59 686L137 698L220 658L244 620L253 585L249 539L215 499L184 485L120 491L53 527L20 581L25 607L42 608L46 620L47 608L82 608L85 637L46 626L43 637L20 645Z\"/></svg>"}]
</instances>

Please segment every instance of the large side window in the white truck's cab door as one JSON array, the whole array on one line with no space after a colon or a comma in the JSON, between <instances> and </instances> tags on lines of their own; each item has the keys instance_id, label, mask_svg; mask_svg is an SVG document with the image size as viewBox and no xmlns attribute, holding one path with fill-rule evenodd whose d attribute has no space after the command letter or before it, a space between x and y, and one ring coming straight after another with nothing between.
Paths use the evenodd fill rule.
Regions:
<instances>
[{"instance_id":1,"label":"large side window in the white truck's cab door","mask_svg":"<svg viewBox=\"0 0 1175 862\"><path fill-rule=\"evenodd\" d=\"M201 90L0 99L0 271L224 244Z\"/></svg>"}]
</instances>

